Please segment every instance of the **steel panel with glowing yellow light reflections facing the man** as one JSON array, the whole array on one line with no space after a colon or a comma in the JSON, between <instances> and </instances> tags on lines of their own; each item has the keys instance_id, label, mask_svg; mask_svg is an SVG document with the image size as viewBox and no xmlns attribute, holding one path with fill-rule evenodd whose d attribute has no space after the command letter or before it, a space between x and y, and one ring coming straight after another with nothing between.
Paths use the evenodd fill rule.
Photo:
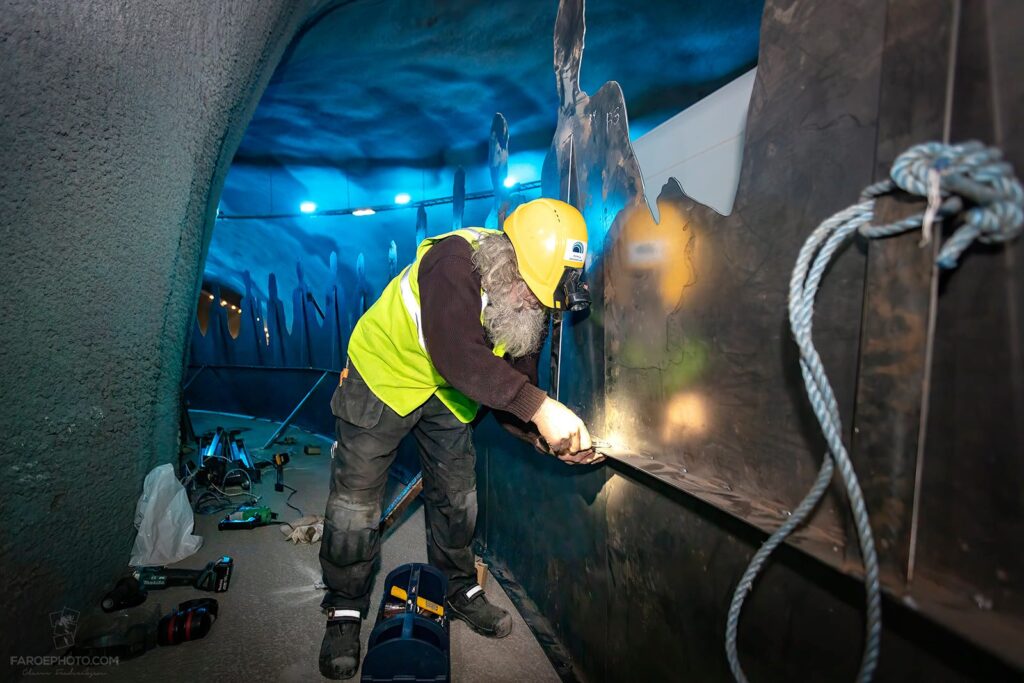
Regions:
<instances>
[{"instance_id":1,"label":"steel panel with glowing yellow light reflections facing the man","mask_svg":"<svg viewBox=\"0 0 1024 683\"><path fill-rule=\"evenodd\" d=\"M612 217L604 249L603 436L627 462L761 528L801 500L824 444L786 322L806 236L851 204L874 169L885 7L768 3L735 209L722 216L675 182ZM858 27L851 50L834 32ZM829 268L815 338L847 436L864 256ZM793 542L856 572L830 495Z\"/></svg>"}]
</instances>

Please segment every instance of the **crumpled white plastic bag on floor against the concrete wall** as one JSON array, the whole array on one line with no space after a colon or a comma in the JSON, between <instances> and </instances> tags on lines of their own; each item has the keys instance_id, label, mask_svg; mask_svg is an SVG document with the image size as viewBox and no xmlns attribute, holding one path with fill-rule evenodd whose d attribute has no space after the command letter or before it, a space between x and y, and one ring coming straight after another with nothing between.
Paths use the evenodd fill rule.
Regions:
<instances>
[{"instance_id":1,"label":"crumpled white plastic bag on floor against the concrete wall","mask_svg":"<svg viewBox=\"0 0 1024 683\"><path fill-rule=\"evenodd\" d=\"M170 465L159 465L145 475L142 495L135 506L135 546L128 564L163 566L183 560L203 545L193 536L191 506L185 487Z\"/></svg>"}]
</instances>

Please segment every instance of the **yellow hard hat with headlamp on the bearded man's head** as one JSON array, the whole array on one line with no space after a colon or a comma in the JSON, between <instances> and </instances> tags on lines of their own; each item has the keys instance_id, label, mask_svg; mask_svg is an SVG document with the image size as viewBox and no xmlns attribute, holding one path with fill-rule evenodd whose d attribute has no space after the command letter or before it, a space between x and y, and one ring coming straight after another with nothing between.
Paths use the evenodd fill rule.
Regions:
<instances>
[{"instance_id":1,"label":"yellow hard hat with headlamp on the bearded man's head","mask_svg":"<svg viewBox=\"0 0 1024 683\"><path fill-rule=\"evenodd\" d=\"M505 219L519 274L548 308L579 310L590 304L580 275L587 260L587 223L574 207L539 199Z\"/></svg>"}]
</instances>

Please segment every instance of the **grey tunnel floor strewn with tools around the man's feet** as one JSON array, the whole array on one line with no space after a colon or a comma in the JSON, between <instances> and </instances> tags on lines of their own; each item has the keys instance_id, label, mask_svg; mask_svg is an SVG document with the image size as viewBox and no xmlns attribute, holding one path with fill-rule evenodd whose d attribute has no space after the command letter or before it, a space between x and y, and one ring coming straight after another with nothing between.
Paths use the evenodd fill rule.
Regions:
<instances>
[{"instance_id":1,"label":"grey tunnel floor strewn with tools around the man's feet","mask_svg":"<svg viewBox=\"0 0 1024 683\"><path fill-rule=\"evenodd\" d=\"M242 437L253 444L266 441L279 423L240 416L193 412L196 432L202 434L217 426L246 429ZM294 436L291 464L285 470L285 483L298 489L292 504L305 514L323 514L329 488L331 440L297 428L285 436ZM301 453L305 443L322 446L319 456ZM256 457L265 457L256 452ZM392 481L392 488L397 488ZM269 504L280 519L298 516L285 505L287 493L273 490L273 471L266 470L258 485L261 504ZM389 490L389 495L390 495ZM316 656L324 634L324 615L319 610L323 590L317 553L319 543L293 545L278 526L245 531L219 531L217 520L224 513L196 515L196 532L204 538L202 549L176 566L202 567L221 555L234 559L234 573L226 593L210 594L194 589L174 588L153 591L146 601L132 609L118 612L115 618L125 624L151 615L169 612L179 602L200 597L215 597L220 614L201 640L174 647L157 647L141 656L122 661L104 674L109 681L141 680L219 680L219 681L309 681L327 680L319 676ZM423 506L419 502L385 538L381 571L374 584L371 605L376 610L383 593L383 579L395 566L406 562L426 562ZM558 681L550 661L515 610L505 591L488 577L489 599L508 609L515 621L512 634L502 640L479 636L462 622L452 623L453 681ZM156 618L156 614L153 614ZM362 652L373 630L374 618L362 625ZM358 676L349 679L357 681Z\"/></svg>"}]
</instances>

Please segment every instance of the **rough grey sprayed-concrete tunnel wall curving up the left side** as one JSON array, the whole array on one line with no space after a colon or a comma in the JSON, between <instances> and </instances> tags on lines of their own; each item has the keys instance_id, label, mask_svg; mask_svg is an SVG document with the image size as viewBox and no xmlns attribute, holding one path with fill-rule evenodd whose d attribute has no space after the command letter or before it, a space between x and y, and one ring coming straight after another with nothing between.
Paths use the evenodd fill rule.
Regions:
<instances>
[{"instance_id":1,"label":"rough grey sprayed-concrete tunnel wall curving up the left side","mask_svg":"<svg viewBox=\"0 0 1024 683\"><path fill-rule=\"evenodd\" d=\"M177 453L214 202L312 2L4 3L0 661L127 565Z\"/></svg>"}]
</instances>

